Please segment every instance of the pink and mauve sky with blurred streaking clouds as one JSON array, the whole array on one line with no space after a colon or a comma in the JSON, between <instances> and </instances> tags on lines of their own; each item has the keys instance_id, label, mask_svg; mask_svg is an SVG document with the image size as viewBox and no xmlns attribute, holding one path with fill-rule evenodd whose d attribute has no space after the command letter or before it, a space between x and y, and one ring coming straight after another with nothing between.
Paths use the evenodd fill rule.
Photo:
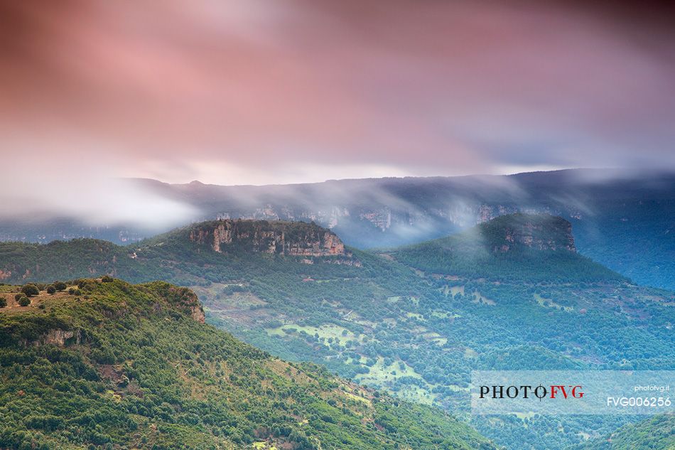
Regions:
<instances>
[{"instance_id":1,"label":"pink and mauve sky with blurred streaking clouds","mask_svg":"<svg viewBox=\"0 0 675 450\"><path fill-rule=\"evenodd\" d=\"M0 152L32 174L9 171L21 195L3 200L90 202L122 190L109 181L119 177L675 168L673 12L649 1L0 0Z\"/></svg>"}]
</instances>

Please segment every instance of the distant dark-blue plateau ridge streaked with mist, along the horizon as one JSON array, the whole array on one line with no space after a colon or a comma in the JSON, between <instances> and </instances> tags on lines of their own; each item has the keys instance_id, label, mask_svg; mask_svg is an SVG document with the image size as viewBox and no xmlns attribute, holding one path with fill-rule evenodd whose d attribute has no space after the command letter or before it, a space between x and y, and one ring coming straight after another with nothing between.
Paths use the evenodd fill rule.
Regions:
<instances>
[{"instance_id":1,"label":"distant dark-blue plateau ridge streaked with mist, along the horizon","mask_svg":"<svg viewBox=\"0 0 675 450\"><path fill-rule=\"evenodd\" d=\"M443 237L500 215L546 213L573 225L585 256L639 284L675 289L675 176L575 169L512 176L379 178L284 186L215 186L129 180L190 205L193 220L314 221L361 249ZM0 240L92 237L138 242L155 234L130 224L36 215L0 220ZM158 218L162 223L163 218ZM166 230L159 230L166 231Z\"/></svg>"}]
</instances>

